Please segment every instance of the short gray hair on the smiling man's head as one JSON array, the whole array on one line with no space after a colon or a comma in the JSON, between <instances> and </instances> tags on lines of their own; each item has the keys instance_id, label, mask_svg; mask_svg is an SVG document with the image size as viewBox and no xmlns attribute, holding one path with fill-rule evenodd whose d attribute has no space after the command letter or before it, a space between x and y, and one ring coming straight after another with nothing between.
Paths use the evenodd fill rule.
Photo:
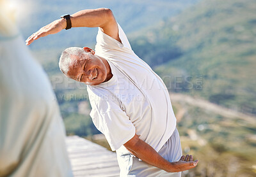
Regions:
<instances>
[{"instance_id":1,"label":"short gray hair on the smiling man's head","mask_svg":"<svg viewBox=\"0 0 256 177\"><path fill-rule=\"evenodd\" d=\"M70 47L66 48L60 56L59 67L60 71L67 76L69 71L69 66L72 62L71 55L81 56L84 53L83 48L81 47Z\"/></svg>"}]
</instances>

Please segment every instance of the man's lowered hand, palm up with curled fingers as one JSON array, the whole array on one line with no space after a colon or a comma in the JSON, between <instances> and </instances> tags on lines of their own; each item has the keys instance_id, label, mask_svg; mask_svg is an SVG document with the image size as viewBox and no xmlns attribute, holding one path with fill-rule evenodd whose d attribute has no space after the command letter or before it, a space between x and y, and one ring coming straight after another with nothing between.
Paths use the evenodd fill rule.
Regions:
<instances>
[{"instance_id":1,"label":"man's lowered hand, palm up with curled fingers","mask_svg":"<svg viewBox=\"0 0 256 177\"><path fill-rule=\"evenodd\" d=\"M193 161L192 155L182 155L180 157L180 160L178 162L172 162L172 169L170 169L169 172L179 172L179 171L186 171L188 169L191 169L193 167L196 167L198 163L198 160Z\"/></svg>"}]
</instances>

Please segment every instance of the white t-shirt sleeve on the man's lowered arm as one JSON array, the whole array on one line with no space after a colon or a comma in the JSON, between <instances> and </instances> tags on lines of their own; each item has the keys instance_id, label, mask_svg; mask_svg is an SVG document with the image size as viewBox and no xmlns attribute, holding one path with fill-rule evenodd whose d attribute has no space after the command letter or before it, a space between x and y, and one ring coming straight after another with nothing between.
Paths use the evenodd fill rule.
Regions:
<instances>
[{"instance_id":1,"label":"white t-shirt sleeve on the man's lowered arm","mask_svg":"<svg viewBox=\"0 0 256 177\"><path fill-rule=\"evenodd\" d=\"M93 124L105 135L111 150L118 150L135 135L135 127L126 113L120 109L99 113L92 109Z\"/></svg>"}]
</instances>

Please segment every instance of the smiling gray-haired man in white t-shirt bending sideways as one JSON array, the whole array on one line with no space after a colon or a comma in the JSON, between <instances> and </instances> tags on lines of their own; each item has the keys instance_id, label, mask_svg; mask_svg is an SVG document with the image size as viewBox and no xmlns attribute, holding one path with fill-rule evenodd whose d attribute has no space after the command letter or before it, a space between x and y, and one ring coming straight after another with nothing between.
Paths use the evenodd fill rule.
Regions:
<instances>
[{"instance_id":1,"label":"smiling gray-haired man in white t-shirt bending sideways","mask_svg":"<svg viewBox=\"0 0 256 177\"><path fill-rule=\"evenodd\" d=\"M93 123L112 150L120 176L180 176L198 160L182 155L176 118L163 80L133 51L111 10L65 15L32 34L26 44L72 27L99 27L95 51L67 48L60 69L88 85Z\"/></svg>"}]
</instances>

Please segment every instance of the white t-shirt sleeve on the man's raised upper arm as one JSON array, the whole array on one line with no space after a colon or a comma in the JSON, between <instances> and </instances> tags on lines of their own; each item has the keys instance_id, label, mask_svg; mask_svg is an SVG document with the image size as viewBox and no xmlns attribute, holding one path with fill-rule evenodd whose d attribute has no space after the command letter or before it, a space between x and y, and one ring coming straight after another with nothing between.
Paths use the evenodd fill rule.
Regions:
<instances>
[{"instance_id":1,"label":"white t-shirt sleeve on the man's raised upper arm","mask_svg":"<svg viewBox=\"0 0 256 177\"><path fill-rule=\"evenodd\" d=\"M132 50L131 45L127 39L127 36L125 35L122 27L118 24L118 35L121 39L122 43L117 41L116 39L108 36L108 34L105 34L102 32L99 28L98 34L97 34L97 44L95 46L95 52L96 53L104 53L108 50L118 50L118 48L126 48L127 50Z\"/></svg>"}]
</instances>

